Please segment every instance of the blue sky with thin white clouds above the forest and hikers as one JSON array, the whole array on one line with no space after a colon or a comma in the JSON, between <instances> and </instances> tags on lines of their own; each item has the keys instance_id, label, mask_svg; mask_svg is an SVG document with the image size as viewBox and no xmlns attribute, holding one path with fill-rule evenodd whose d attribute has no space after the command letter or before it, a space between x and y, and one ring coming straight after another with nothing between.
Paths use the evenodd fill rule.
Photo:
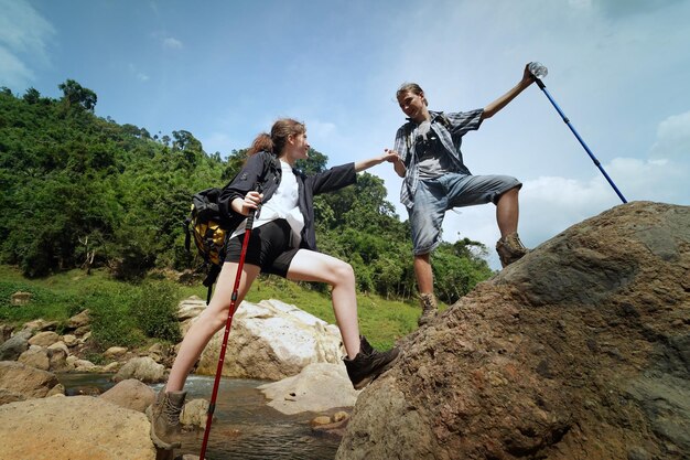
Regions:
<instances>
[{"instance_id":1,"label":"blue sky with thin white clouds above the forest and hikers","mask_svg":"<svg viewBox=\"0 0 690 460\"><path fill-rule=\"evenodd\" d=\"M73 78L97 115L185 129L223 156L289 116L334 165L392 147L401 83L432 109L470 110L540 61L628 201L690 205L689 20L689 0L0 0L0 86L60 97ZM528 246L621 204L536 85L465 136L463 154L475 174L524 182ZM406 217L390 165L369 172ZM449 212L444 238L459 235L498 267L493 205Z\"/></svg>"}]
</instances>

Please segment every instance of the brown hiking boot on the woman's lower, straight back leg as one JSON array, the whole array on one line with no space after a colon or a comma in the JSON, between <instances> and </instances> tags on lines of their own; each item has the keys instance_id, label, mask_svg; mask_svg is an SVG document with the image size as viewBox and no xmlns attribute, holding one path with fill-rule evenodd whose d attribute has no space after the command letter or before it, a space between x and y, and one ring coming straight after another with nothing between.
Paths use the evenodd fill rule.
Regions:
<instances>
[{"instance_id":1,"label":"brown hiking boot on the woman's lower, straight back leg","mask_svg":"<svg viewBox=\"0 0 690 460\"><path fill-rule=\"evenodd\" d=\"M160 449L180 448L173 439L180 435L180 413L187 392L165 392L161 389L155 402L147 407L147 417L151 422L151 440Z\"/></svg>"}]
</instances>

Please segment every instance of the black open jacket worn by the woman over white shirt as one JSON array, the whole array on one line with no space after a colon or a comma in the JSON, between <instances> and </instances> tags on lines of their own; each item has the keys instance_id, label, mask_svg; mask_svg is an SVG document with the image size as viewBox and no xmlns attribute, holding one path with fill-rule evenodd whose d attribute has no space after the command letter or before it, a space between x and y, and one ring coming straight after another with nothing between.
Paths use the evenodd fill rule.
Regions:
<instances>
[{"instance_id":1,"label":"black open jacket worn by the woman over white shirt","mask_svg":"<svg viewBox=\"0 0 690 460\"><path fill-rule=\"evenodd\" d=\"M316 233L314 229L314 195L326 192L334 192L344 186L354 184L357 181L355 163L342 164L330 170L305 175L298 170L293 170L298 181L298 205L304 216L304 228L302 229L302 242L300 247L304 249L319 250L316 248ZM278 185L280 184L281 169L280 162L272 153L258 152L247 159L244 168L235 179L223 189L218 204L220 213L227 215L237 225L244 221L245 216L233 211L231 203L235 199L244 199L245 195L257 190L261 185L263 203L268 202Z\"/></svg>"}]
</instances>

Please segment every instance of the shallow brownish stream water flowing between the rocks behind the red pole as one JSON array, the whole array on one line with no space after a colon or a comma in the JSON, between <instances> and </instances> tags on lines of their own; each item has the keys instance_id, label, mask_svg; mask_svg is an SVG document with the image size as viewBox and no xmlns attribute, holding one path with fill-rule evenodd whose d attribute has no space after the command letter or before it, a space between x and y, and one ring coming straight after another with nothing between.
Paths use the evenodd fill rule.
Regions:
<instances>
[{"instance_id":1,"label":"shallow brownish stream water flowing between the rocks behind the red pole","mask_svg":"<svg viewBox=\"0 0 690 460\"><path fill-rule=\"evenodd\" d=\"M68 396L110 388L110 375L63 374L58 376ZM335 457L339 440L312 431L309 422L317 414L283 415L266 405L257 389L265 381L223 378L206 450L207 460L328 460ZM158 392L161 385L152 385ZM209 398L213 377L191 376L185 386L187 400ZM198 456L204 431L183 435L179 453Z\"/></svg>"}]
</instances>

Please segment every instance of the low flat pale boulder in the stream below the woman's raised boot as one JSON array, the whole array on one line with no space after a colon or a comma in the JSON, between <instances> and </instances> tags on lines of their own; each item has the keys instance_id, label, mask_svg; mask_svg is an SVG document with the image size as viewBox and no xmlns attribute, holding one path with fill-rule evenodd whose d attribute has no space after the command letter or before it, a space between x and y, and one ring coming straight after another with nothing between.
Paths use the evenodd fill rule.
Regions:
<instances>
[{"instance_id":1,"label":"low flat pale boulder in the stream below the woman's raised boot","mask_svg":"<svg viewBox=\"0 0 690 460\"><path fill-rule=\"evenodd\" d=\"M271 399L270 407L288 415L353 407L359 394L353 388L343 363L310 364L298 375L263 384L259 389Z\"/></svg>"}]
</instances>

